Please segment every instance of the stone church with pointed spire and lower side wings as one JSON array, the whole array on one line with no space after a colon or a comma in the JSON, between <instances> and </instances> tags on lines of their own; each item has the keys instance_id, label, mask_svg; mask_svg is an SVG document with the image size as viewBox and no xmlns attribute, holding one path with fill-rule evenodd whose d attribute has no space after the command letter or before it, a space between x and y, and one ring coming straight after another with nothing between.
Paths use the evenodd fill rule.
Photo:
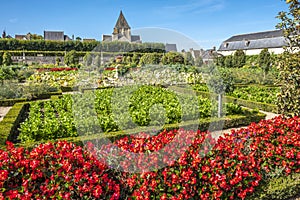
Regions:
<instances>
[{"instance_id":1,"label":"stone church with pointed spire and lower side wings","mask_svg":"<svg viewBox=\"0 0 300 200\"><path fill-rule=\"evenodd\" d=\"M123 42L135 42L142 43L139 35L131 35L131 28L125 19L123 12L120 12L117 23L114 27L112 35L102 35L102 41L123 41Z\"/></svg>"}]
</instances>

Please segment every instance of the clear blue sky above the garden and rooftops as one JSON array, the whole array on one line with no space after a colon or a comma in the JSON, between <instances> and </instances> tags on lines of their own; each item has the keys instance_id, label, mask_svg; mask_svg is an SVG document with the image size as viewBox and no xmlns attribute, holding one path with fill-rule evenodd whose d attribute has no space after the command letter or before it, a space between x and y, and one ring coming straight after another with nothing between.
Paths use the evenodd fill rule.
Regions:
<instances>
[{"instance_id":1,"label":"clear blue sky above the garden and rooftops","mask_svg":"<svg viewBox=\"0 0 300 200\"><path fill-rule=\"evenodd\" d=\"M208 49L232 35L275 29L276 15L287 6L283 0L9 0L1 2L0 31L14 37L63 30L101 40L102 34L112 33L120 10L143 41L172 43L174 33L196 44L184 48ZM155 34L155 29L145 29L149 27L167 32Z\"/></svg>"}]
</instances>

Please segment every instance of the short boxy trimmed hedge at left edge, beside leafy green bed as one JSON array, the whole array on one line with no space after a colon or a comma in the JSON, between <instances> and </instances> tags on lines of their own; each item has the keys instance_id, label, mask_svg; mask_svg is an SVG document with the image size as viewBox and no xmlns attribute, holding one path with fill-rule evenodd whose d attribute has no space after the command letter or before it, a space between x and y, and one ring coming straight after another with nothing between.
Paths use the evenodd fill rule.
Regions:
<instances>
[{"instance_id":1,"label":"short boxy trimmed hedge at left edge, beside leafy green bed","mask_svg":"<svg viewBox=\"0 0 300 200\"><path fill-rule=\"evenodd\" d=\"M11 141L12 136L18 133L18 127L28 109L28 103L16 103L5 115L0 122L0 148L5 147L5 142Z\"/></svg>"}]
</instances>

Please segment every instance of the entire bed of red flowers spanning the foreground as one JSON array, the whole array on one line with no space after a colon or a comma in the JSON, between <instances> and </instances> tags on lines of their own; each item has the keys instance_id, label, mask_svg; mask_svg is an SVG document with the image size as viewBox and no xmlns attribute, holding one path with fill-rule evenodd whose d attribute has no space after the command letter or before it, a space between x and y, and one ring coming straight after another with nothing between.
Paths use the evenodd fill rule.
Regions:
<instances>
[{"instance_id":1,"label":"entire bed of red flowers spanning the foreground","mask_svg":"<svg viewBox=\"0 0 300 200\"><path fill-rule=\"evenodd\" d=\"M244 199L275 169L300 173L299 117L253 123L217 142L206 132L174 130L114 144L120 151L112 144L90 143L91 153L66 142L31 151L9 144L0 151L0 199L123 199L122 191L128 199ZM126 172L137 168L144 172Z\"/></svg>"}]
</instances>

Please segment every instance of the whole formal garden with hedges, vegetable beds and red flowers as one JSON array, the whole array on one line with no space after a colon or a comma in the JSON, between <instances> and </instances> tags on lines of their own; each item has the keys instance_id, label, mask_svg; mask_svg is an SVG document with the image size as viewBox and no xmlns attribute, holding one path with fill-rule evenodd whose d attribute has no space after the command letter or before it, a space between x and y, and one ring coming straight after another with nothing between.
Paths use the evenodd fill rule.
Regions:
<instances>
[{"instance_id":1,"label":"whole formal garden with hedges, vegetable beds and red flowers","mask_svg":"<svg viewBox=\"0 0 300 200\"><path fill-rule=\"evenodd\" d=\"M287 20L299 6L287 3L281 55L204 63L163 44L0 39L0 199L299 197L300 43ZM64 64L14 63L20 46Z\"/></svg>"}]
</instances>

